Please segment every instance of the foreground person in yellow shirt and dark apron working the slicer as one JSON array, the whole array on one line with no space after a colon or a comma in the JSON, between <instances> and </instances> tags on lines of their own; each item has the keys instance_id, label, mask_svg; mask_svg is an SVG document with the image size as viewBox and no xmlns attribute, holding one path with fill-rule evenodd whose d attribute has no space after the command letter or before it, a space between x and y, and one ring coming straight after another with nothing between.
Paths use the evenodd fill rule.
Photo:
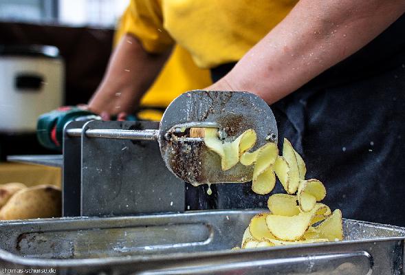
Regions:
<instances>
[{"instance_id":1,"label":"foreground person in yellow shirt and dark apron working the slicer","mask_svg":"<svg viewBox=\"0 0 405 275\"><path fill-rule=\"evenodd\" d=\"M270 104L278 139L292 140L309 177L325 181L332 207L405 225L405 145L397 142L405 137L405 1L133 0L128 12L89 109L106 119L132 113L180 45L210 69L205 89L249 91ZM194 189L192 208L264 205L245 186L217 186L211 199Z\"/></svg>"}]
</instances>

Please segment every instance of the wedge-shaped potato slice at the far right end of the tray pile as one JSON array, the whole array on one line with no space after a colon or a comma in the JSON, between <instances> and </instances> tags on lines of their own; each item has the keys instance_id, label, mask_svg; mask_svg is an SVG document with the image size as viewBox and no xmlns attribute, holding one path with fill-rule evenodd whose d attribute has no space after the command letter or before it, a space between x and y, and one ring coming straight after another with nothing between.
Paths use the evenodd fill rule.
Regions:
<instances>
[{"instance_id":1,"label":"wedge-shaped potato slice at the far right end of the tray pile","mask_svg":"<svg viewBox=\"0 0 405 275\"><path fill-rule=\"evenodd\" d=\"M342 212L336 209L332 214L322 221L320 225L315 228L319 232L319 236L329 241L342 241L343 227L342 227Z\"/></svg>"}]
</instances>

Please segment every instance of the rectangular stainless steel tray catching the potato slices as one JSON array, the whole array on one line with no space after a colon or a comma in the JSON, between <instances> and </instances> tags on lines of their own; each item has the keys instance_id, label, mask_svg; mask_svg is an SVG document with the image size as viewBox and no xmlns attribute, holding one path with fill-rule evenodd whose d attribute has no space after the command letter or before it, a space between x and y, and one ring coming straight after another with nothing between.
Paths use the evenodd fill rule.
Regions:
<instances>
[{"instance_id":1,"label":"rectangular stainless steel tray catching the potato slices","mask_svg":"<svg viewBox=\"0 0 405 275\"><path fill-rule=\"evenodd\" d=\"M344 241L240 246L263 210L0 222L0 267L58 274L402 274L405 228L344 220ZM0 270L1 271L1 270Z\"/></svg>"}]
</instances>

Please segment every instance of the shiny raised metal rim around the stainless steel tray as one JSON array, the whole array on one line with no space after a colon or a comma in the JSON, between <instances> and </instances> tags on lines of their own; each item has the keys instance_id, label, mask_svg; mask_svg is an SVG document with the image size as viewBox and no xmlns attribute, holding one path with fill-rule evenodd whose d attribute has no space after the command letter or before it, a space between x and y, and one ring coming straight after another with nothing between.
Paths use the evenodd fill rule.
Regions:
<instances>
[{"instance_id":1,"label":"shiny raised metal rim around the stainless steel tray","mask_svg":"<svg viewBox=\"0 0 405 275\"><path fill-rule=\"evenodd\" d=\"M218 212L223 214L229 212L251 212L251 214L257 214L263 212L265 208L252 208L252 209L229 209L229 210L192 210L187 212L165 212L156 214L138 214L131 216L119 216L119 217L61 217L61 218L47 218L47 219L25 219L25 220L10 220L10 221L0 221L0 228L8 225L19 225L19 224L41 224L41 223L63 223L68 221L77 221L85 219L86 221L94 220L100 221L100 219L128 219L135 217L143 217L144 219L150 217L178 217L179 215L193 215L193 214L212 214L212 212ZM267 210L268 212L268 210ZM230 256L237 254L255 254L257 252L266 251L284 251L284 250L294 250L296 248L328 248L333 246L340 246L345 244L355 244L355 243L370 243L370 242L383 242L383 241L405 241L405 228L397 225L386 225L383 223L373 223L370 221L358 221L355 219L343 219L344 221L353 221L357 223L362 223L366 225L377 225L383 228L396 229L404 231L404 236L389 236L389 237L375 237L371 239L360 239L360 240L347 240L347 241L333 241L324 243L305 243L298 245L285 245L276 246L270 248L252 248L243 250L216 250L216 251L204 251L204 252L174 252L171 254L147 254L142 255L127 255L127 256L109 256L106 258L87 258L87 259L41 259L41 258L31 258L24 257L7 252L6 250L0 249L0 260L6 261L8 263L14 263L19 265L30 265L30 266L46 266L46 267L87 267L89 265L94 267L102 267L105 265L122 265L128 263L144 263L147 261L180 261L184 259L197 259L206 256ZM121 227L124 228L125 226ZM112 227L110 227L112 228ZM333 254L333 253L329 253Z\"/></svg>"}]
</instances>

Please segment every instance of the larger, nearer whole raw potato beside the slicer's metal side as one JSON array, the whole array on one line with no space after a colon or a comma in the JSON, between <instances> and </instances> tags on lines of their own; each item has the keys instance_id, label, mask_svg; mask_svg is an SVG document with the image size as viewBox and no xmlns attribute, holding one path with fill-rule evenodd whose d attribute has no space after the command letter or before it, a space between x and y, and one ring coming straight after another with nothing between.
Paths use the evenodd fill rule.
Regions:
<instances>
[{"instance_id":1,"label":"larger, nearer whole raw potato beside the slicer's metal side","mask_svg":"<svg viewBox=\"0 0 405 275\"><path fill-rule=\"evenodd\" d=\"M61 217L62 192L50 185L25 188L15 193L0 210L0 219Z\"/></svg>"}]
</instances>

